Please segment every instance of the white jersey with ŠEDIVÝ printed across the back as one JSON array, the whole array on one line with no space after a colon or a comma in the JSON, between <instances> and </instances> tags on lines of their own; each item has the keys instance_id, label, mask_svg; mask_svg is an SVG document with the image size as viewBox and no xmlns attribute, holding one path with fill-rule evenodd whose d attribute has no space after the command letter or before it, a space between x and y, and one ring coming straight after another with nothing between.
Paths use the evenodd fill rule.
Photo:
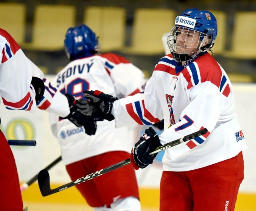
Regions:
<instances>
[{"instance_id":1,"label":"white jersey with \u0160EDIV\u00dd printed across the back","mask_svg":"<svg viewBox=\"0 0 256 211\"><path fill-rule=\"evenodd\" d=\"M144 90L141 70L116 54L101 54L70 62L52 80L63 94L82 98L84 90L100 90L123 98ZM84 128L50 114L53 134L58 138L65 165L108 151L127 151L132 148L133 131L115 128L114 121L98 121L95 135L87 135ZM124 141L124 137L130 141Z\"/></svg>"}]
</instances>

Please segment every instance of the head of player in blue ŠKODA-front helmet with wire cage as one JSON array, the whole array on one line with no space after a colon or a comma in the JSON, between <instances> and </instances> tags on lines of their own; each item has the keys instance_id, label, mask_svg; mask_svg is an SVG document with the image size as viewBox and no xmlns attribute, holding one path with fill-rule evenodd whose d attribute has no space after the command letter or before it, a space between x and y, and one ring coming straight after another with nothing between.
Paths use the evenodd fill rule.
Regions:
<instances>
[{"instance_id":1,"label":"head of player in blue \u0160KODA-front helmet with wire cage","mask_svg":"<svg viewBox=\"0 0 256 211\"><path fill-rule=\"evenodd\" d=\"M207 10L188 9L176 17L167 37L172 57L187 62L212 48L217 37L217 20Z\"/></svg>"}]
</instances>

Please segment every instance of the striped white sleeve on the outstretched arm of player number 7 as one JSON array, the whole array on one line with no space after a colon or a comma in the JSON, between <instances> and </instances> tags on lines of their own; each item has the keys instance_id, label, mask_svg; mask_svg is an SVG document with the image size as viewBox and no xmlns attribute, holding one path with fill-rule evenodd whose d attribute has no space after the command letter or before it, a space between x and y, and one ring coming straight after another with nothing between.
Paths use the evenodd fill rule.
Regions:
<instances>
[{"instance_id":1,"label":"striped white sleeve on the outstretched arm of player number 7","mask_svg":"<svg viewBox=\"0 0 256 211\"><path fill-rule=\"evenodd\" d=\"M116 120L116 127L127 125L151 125L163 119L161 109L157 109L160 101L154 89L154 80L148 80L144 93L128 96L113 103L112 114ZM147 104L145 104L147 102Z\"/></svg>"}]
</instances>

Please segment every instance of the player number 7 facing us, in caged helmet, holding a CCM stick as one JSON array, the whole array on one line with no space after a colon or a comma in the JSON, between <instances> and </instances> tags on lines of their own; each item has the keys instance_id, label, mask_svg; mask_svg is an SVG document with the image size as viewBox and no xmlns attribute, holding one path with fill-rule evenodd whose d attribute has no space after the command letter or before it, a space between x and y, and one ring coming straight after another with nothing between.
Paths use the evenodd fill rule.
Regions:
<instances>
[{"instance_id":1,"label":"player number 7 facing us, in caged helmet, holding a CCM stick","mask_svg":"<svg viewBox=\"0 0 256 211\"><path fill-rule=\"evenodd\" d=\"M214 15L188 9L176 18L167 40L170 54L156 64L144 94L112 103L99 91L84 92L90 100L87 113L96 120L113 115L117 127L164 118L161 135L150 127L132 148L136 169L153 162L156 155L148 153L159 145L208 129L206 135L165 151L160 211L234 211L244 178L246 142L230 80L207 52L216 37Z\"/></svg>"}]
</instances>

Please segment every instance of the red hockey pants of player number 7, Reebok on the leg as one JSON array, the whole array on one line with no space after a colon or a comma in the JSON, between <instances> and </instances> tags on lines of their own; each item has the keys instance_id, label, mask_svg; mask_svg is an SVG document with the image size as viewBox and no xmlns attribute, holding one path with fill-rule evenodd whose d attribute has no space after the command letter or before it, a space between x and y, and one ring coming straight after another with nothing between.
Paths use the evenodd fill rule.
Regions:
<instances>
[{"instance_id":1,"label":"red hockey pants of player number 7, Reebok on the leg","mask_svg":"<svg viewBox=\"0 0 256 211\"><path fill-rule=\"evenodd\" d=\"M242 152L192 171L163 171L160 211L234 211L243 179Z\"/></svg>"}]
</instances>

